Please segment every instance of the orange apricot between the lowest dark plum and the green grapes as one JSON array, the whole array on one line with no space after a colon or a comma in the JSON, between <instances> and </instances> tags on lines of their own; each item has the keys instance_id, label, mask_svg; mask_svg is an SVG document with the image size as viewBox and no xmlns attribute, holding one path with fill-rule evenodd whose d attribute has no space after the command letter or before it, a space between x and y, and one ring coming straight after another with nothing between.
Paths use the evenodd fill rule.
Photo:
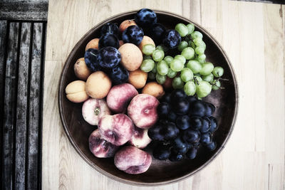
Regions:
<instances>
[{"instance_id":1,"label":"orange apricot between the lowest dark plum and the green grapes","mask_svg":"<svg viewBox=\"0 0 285 190\"><path fill-rule=\"evenodd\" d=\"M147 73L140 69L130 71L128 82L132 84L135 88L143 88L147 82Z\"/></svg>"}]
</instances>

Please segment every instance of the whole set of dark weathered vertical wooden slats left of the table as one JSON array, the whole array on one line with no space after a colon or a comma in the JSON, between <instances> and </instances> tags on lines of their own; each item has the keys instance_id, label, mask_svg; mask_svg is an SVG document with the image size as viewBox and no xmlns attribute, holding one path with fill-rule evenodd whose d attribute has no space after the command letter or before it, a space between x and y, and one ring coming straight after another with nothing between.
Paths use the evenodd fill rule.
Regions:
<instances>
[{"instance_id":1,"label":"whole set of dark weathered vertical wooden slats left of the table","mask_svg":"<svg viewBox=\"0 0 285 190\"><path fill-rule=\"evenodd\" d=\"M0 21L1 189L41 189L46 21Z\"/></svg>"}]
</instances>

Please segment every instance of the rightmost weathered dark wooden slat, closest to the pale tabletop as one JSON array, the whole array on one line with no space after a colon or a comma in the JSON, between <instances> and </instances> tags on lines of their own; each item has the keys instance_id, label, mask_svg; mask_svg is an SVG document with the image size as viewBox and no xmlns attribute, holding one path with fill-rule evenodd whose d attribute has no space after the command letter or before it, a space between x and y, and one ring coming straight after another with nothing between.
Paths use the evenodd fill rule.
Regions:
<instances>
[{"instance_id":1,"label":"rightmost weathered dark wooden slat, closest to the pale tabletop","mask_svg":"<svg viewBox=\"0 0 285 190\"><path fill-rule=\"evenodd\" d=\"M41 168L40 157L40 132L41 132L41 75L44 36L44 23L33 23L33 41L31 51L31 80L28 115L28 168L27 168L27 188L38 189L39 169Z\"/></svg>"}]
</instances>

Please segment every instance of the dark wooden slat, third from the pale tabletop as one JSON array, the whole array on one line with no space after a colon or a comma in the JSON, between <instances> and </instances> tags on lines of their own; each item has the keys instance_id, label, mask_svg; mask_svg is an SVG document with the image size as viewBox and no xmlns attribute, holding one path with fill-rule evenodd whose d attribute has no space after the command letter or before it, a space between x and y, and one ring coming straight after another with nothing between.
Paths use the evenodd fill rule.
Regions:
<instances>
[{"instance_id":1,"label":"dark wooden slat, third from the pale tabletop","mask_svg":"<svg viewBox=\"0 0 285 190\"><path fill-rule=\"evenodd\" d=\"M21 23L10 23L6 59L2 188L14 186L14 130L16 127L16 89L18 80L18 47Z\"/></svg>"}]
</instances>

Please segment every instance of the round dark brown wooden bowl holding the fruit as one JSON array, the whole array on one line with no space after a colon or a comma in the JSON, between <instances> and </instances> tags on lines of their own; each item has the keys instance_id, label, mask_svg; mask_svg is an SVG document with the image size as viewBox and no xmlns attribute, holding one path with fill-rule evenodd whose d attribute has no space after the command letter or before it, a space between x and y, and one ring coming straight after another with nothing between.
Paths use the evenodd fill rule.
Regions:
<instances>
[{"instance_id":1,"label":"round dark brown wooden bowl holding the fruit","mask_svg":"<svg viewBox=\"0 0 285 190\"><path fill-rule=\"evenodd\" d=\"M206 167L207 164L212 162L224 148L232 133L234 122L237 117L237 80L226 53L222 50L222 47L217 43L214 37L202 28L202 26L176 14L165 11L155 11L157 14L157 21L167 28L174 28L177 23L193 23L195 25L195 30L200 31L203 34L203 40L207 44L205 51L207 61L224 68L223 78L228 79L222 80L222 87L224 87L224 89L214 90L210 95L204 98L204 100L212 102L212 104L217 107L214 116L217 117L219 128L214 132L213 136L214 141L217 142L217 148L213 152L209 152L207 149L201 147L199 148L199 152L195 159L185 159L181 162L170 162L169 160L160 161L152 157L150 168L143 174L135 175L126 174L117 169L113 163L113 158L102 159L95 157L89 150L88 137L91 132L96 129L96 126L91 126L83 120L81 114L81 107L83 104L70 102L66 98L65 88L68 83L71 83L73 80L78 80L74 74L73 65L78 58L84 56L86 44L91 39L100 36L100 27L108 22L120 24L126 19L133 19L136 12L137 11L130 11L117 16L112 16L90 29L90 31L78 41L69 54L61 73L58 89L59 112L63 128L73 147L91 167L101 174L104 174L111 179L133 185L153 186L170 184L186 179Z\"/></svg>"}]
</instances>

